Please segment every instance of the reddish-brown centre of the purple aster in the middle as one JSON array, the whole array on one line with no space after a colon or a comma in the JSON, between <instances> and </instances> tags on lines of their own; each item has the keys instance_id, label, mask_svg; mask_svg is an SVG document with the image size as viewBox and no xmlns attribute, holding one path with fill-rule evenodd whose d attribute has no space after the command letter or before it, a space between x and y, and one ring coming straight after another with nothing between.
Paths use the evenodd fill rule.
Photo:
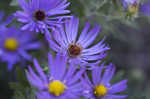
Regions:
<instances>
[{"instance_id":1,"label":"reddish-brown centre of the purple aster in the middle","mask_svg":"<svg viewBox=\"0 0 150 99\"><path fill-rule=\"evenodd\" d=\"M71 44L68 48L68 53L71 57L77 57L81 54L82 47L78 44Z\"/></svg>"}]
</instances>

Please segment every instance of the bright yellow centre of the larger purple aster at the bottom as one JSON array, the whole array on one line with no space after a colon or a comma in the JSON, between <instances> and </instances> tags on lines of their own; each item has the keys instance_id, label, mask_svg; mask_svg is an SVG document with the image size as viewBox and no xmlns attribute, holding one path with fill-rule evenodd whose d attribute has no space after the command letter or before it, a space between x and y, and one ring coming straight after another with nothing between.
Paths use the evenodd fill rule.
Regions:
<instances>
[{"instance_id":1,"label":"bright yellow centre of the larger purple aster at the bottom","mask_svg":"<svg viewBox=\"0 0 150 99\"><path fill-rule=\"evenodd\" d=\"M53 94L54 96L60 96L61 94L64 93L66 89L66 86L60 82L60 81L52 81L49 85L48 85L48 90L51 94Z\"/></svg>"}]
</instances>

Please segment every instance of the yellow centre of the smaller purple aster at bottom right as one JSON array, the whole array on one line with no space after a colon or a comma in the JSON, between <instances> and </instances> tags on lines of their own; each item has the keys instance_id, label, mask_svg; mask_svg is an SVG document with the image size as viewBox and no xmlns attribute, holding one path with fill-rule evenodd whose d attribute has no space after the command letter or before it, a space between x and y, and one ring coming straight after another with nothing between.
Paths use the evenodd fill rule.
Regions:
<instances>
[{"instance_id":1,"label":"yellow centre of the smaller purple aster at bottom right","mask_svg":"<svg viewBox=\"0 0 150 99\"><path fill-rule=\"evenodd\" d=\"M105 96L107 93L107 88L104 85L97 85L94 88L94 95L96 97L103 97Z\"/></svg>"}]
</instances>

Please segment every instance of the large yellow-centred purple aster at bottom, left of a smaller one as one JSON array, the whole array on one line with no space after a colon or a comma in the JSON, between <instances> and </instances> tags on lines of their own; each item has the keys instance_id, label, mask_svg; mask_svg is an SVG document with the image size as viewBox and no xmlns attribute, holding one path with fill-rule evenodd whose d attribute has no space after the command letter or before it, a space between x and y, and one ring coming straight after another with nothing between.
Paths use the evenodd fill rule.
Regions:
<instances>
[{"instance_id":1,"label":"large yellow-centred purple aster at bottom, left of a smaller one","mask_svg":"<svg viewBox=\"0 0 150 99\"><path fill-rule=\"evenodd\" d=\"M82 94L80 81L84 69L77 71L74 63L67 66L67 57L57 54L54 59L49 54L49 75L45 74L36 59L34 66L38 74L29 67L27 78L38 88L38 99L79 99Z\"/></svg>"}]
</instances>

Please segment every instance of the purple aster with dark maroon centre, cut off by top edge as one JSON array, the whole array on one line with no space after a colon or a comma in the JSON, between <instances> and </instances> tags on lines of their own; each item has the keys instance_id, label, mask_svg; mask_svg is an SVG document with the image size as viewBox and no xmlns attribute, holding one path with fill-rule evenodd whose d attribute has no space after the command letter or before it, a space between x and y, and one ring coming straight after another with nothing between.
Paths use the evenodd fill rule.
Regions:
<instances>
[{"instance_id":1,"label":"purple aster with dark maroon centre, cut off by top edge","mask_svg":"<svg viewBox=\"0 0 150 99\"><path fill-rule=\"evenodd\" d=\"M69 4L67 0L19 0L23 11L17 11L15 16L24 23L23 30L43 33L45 29L53 28L63 23L63 18L69 17L64 15L70 13L65 10Z\"/></svg>"}]
</instances>

